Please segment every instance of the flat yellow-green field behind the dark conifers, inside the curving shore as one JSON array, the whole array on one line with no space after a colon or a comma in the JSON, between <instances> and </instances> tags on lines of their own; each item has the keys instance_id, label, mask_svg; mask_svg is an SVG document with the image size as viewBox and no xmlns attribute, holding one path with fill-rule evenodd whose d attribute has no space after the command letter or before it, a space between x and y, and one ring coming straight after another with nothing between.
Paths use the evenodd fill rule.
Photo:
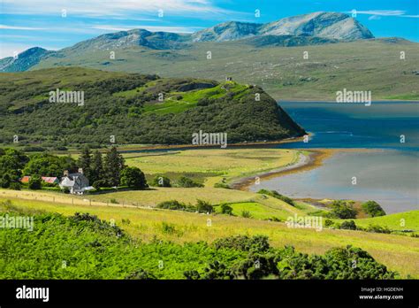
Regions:
<instances>
[{"instance_id":1,"label":"flat yellow-green field behind the dark conifers, inside the curving shore","mask_svg":"<svg viewBox=\"0 0 419 308\"><path fill-rule=\"evenodd\" d=\"M124 157L126 165L138 166L146 174L194 173L205 178L206 187L213 187L223 178L232 181L292 165L299 153L298 150L281 149L206 149L126 153Z\"/></svg>"}]
</instances>

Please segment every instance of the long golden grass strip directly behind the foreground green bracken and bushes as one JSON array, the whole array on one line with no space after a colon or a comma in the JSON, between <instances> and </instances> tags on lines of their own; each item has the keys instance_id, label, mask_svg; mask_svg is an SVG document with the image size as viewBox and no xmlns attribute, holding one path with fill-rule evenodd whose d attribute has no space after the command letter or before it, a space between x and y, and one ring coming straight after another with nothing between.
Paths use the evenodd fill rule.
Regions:
<instances>
[{"instance_id":1,"label":"long golden grass strip directly behind the foreground green bracken and bushes","mask_svg":"<svg viewBox=\"0 0 419 308\"><path fill-rule=\"evenodd\" d=\"M272 246L293 245L307 253L324 253L331 247L352 244L367 250L378 262L398 271L403 277L410 274L419 278L419 264L413 261L419 258L419 242L416 238L408 236L331 229L317 232L314 229L289 228L284 223L259 219L127 208L122 205L90 206L8 199L11 199L15 206L34 211L59 212L65 215L89 212L101 219L113 219L129 234L144 241L152 240L155 235L175 243L201 240L212 242L229 235L268 235ZM4 200L6 198L0 195L0 201ZM173 232L164 232L164 223L170 224Z\"/></svg>"}]
</instances>

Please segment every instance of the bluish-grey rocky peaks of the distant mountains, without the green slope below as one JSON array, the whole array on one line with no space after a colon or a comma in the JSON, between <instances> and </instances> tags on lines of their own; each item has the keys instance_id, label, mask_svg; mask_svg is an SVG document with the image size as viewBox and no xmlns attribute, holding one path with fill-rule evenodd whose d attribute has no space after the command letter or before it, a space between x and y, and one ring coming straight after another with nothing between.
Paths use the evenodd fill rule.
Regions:
<instances>
[{"instance_id":1,"label":"bluish-grey rocky peaks of the distant mountains, without the green slope below","mask_svg":"<svg viewBox=\"0 0 419 308\"><path fill-rule=\"evenodd\" d=\"M72 53L120 50L137 46L150 50L181 50L198 42L229 42L246 39L249 39L248 43L255 44L257 47L270 44L295 46L354 41L373 37L374 35L368 28L347 14L314 12L266 24L229 21L194 34L133 29L99 35L58 51L34 47L20 53L17 58L1 59L0 72L27 71L45 58L63 58Z\"/></svg>"}]
</instances>

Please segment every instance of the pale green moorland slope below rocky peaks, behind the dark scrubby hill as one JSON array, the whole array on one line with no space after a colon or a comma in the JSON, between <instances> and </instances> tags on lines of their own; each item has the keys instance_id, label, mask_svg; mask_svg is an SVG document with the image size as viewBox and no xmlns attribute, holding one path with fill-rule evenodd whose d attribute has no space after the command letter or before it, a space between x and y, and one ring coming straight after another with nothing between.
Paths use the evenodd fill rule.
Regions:
<instances>
[{"instance_id":1,"label":"pale green moorland slope below rocky peaks, behind the dark scrubby hill","mask_svg":"<svg viewBox=\"0 0 419 308\"><path fill-rule=\"evenodd\" d=\"M212 51L212 59L206 53ZM309 51L309 59L302 58ZM400 51L406 59L400 60ZM162 55L164 54L164 57ZM281 100L335 100L338 90L371 90L377 99L419 99L417 70L419 44L415 42L358 41L257 49L240 42L194 44L191 49L143 48L118 50L110 65L108 51L51 58L33 69L53 65L85 65L110 71L157 73L165 77L202 77L257 84Z\"/></svg>"}]
</instances>

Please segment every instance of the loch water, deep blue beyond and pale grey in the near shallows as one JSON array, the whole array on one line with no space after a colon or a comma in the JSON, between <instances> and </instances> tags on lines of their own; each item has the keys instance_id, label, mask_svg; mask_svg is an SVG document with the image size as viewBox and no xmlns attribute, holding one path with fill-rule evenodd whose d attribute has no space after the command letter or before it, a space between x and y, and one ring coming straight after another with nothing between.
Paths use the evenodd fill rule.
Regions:
<instances>
[{"instance_id":1,"label":"loch water, deep blue beyond and pale grey in the near shallows","mask_svg":"<svg viewBox=\"0 0 419 308\"><path fill-rule=\"evenodd\" d=\"M336 154L316 169L278 174L250 190L275 189L292 197L375 200L388 213L419 208L419 104L281 105L313 135L307 143L278 147L337 149ZM404 142L400 142L402 135ZM352 150L339 151L341 148Z\"/></svg>"}]
</instances>

